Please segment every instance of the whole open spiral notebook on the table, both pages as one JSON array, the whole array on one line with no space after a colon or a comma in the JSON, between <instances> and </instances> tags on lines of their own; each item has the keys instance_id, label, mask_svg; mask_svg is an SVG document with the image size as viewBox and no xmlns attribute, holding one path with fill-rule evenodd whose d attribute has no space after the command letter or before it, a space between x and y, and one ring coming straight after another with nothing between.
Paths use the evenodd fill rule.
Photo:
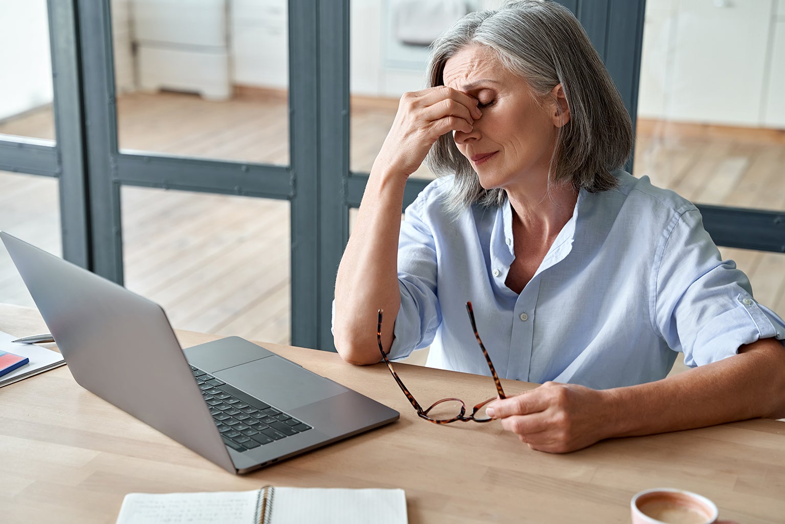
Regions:
<instances>
[{"instance_id":1,"label":"whole open spiral notebook on the table, both pages","mask_svg":"<svg viewBox=\"0 0 785 524\"><path fill-rule=\"evenodd\" d=\"M403 489L128 493L117 524L407 524Z\"/></svg>"}]
</instances>

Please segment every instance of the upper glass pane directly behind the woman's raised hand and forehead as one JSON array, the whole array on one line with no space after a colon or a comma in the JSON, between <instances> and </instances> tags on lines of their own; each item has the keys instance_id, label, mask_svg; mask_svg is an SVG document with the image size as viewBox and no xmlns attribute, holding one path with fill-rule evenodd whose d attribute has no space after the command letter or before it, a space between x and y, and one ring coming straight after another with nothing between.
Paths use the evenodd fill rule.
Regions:
<instances>
[{"instance_id":1,"label":"upper glass pane directly behind the woman's raised hand and forehead","mask_svg":"<svg viewBox=\"0 0 785 524\"><path fill-rule=\"evenodd\" d=\"M445 2L446 10L455 3ZM493 9L502 0L464 3L466 14ZM392 126L400 96L425 87L428 46L452 19L433 16L433 24L418 24L422 5L409 0L354 0L351 9L350 166L353 172L367 173ZM435 177L425 165L412 176Z\"/></svg>"}]
</instances>

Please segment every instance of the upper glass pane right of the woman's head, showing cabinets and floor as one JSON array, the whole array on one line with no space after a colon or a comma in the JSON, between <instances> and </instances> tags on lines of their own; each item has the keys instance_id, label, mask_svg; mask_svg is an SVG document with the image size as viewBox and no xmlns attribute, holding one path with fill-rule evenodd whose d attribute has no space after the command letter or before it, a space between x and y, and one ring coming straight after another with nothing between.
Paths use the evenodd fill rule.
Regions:
<instances>
[{"instance_id":1,"label":"upper glass pane right of the woman's head, showing cabinets and floor","mask_svg":"<svg viewBox=\"0 0 785 524\"><path fill-rule=\"evenodd\" d=\"M646 2L635 174L693 202L785 209L780 93L785 2Z\"/></svg>"}]
</instances>

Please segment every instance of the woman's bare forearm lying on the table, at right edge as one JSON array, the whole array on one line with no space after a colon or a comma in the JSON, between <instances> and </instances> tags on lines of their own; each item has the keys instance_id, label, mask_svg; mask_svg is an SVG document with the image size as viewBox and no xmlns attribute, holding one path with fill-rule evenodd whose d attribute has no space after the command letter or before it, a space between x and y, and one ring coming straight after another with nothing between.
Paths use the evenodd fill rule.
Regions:
<instances>
[{"instance_id":1,"label":"woman's bare forearm lying on the table, at right edge","mask_svg":"<svg viewBox=\"0 0 785 524\"><path fill-rule=\"evenodd\" d=\"M785 348L774 339L758 340L720 362L605 393L614 420L608 437L785 417Z\"/></svg>"}]
</instances>

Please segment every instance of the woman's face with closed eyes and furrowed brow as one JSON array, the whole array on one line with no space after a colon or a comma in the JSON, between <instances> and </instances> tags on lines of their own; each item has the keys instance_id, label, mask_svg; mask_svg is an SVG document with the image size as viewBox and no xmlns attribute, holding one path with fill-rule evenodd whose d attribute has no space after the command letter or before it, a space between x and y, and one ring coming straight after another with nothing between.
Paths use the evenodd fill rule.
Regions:
<instances>
[{"instance_id":1,"label":"woman's face with closed eyes and furrowed brow","mask_svg":"<svg viewBox=\"0 0 785 524\"><path fill-rule=\"evenodd\" d=\"M530 191L547 183L558 126L569 119L557 104L537 100L522 78L509 72L486 47L469 45L444 64L444 85L479 100L482 117L471 133L455 131L485 189ZM560 87L554 93L561 93ZM562 98L562 100L564 100ZM562 104L565 110L566 104Z\"/></svg>"}]
</instances>

